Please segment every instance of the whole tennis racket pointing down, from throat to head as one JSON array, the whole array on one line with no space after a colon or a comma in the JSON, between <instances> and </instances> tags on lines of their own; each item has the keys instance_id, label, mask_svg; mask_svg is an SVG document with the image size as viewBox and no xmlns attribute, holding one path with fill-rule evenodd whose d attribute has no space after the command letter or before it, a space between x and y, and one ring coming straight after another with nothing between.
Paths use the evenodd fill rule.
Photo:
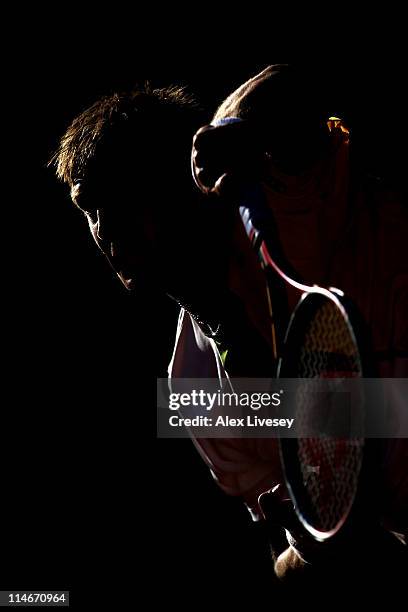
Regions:
<instances>
[{"instance_id":1,"label":"whole tennis racket pointing down, from throat to head","mask_svg":"<svg viewBox=\"0 0 408 612\"><path fill-rule=\"evenodd\" d=\"M359 379L365 374L360 350L363 340L359 343L361 334L356 331L358 314L340 290L305 285L284 271L283 258L276 248L274 221L261 188L247 195L240 214L263 269L281 281L280 295L274 294L276 280L272 286L268 282L270 315L279 352L277 376L299 379L294 397L297 430L302 436L302 431L310 430L311 424L323 424L318 437L281 438L280 451L297 516L316 540L324 541L345 525L356 501L363 470L364 437L324 434L324 424L338 418L336 398L342 390L342 381ZM279 314L273 311L273 305L276 298L282 302L284 288L297 292L299 300L282 338L283 326L279 325ZM316 381L316 389L317 381L325 379L325 392L311 393L310 379ZM349 417L363 423L364 392L362 386L357 389L349 405L353 414L343 416L346 421Z\"/></svg>"}]
</instances>

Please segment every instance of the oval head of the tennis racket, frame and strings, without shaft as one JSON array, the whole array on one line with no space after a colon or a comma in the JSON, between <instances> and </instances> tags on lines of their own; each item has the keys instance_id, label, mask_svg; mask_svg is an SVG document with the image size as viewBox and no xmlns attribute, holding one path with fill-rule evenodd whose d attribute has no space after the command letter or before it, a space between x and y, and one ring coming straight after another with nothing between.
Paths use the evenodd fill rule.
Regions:
<instances>
[{"instance_id":1,"label":"oval head of the tennis racket, frame and strings, without shaft","mask_svg":"<svg viewBox=\"0 0 408 612\"><path fill-rule=\"evenodd\" d=\"M300 379L295 398L295 422L300 429L314 417L321 418L319 413L324 413L327 422L335 405L330 391L321 400L311 400L310 380L302 383L302 379L328 379L328 388L332 384L336 393L338 379L363 377L359 344L340 295L320 288L303 294L289 322L278 376ZM361 412L357 418L364 420L360 391L350 409ZM316 540L332 538L346 524L359 490L364 452L363 437L280 439L286 484L297 516Z\"/></svg>"}]
</instances>

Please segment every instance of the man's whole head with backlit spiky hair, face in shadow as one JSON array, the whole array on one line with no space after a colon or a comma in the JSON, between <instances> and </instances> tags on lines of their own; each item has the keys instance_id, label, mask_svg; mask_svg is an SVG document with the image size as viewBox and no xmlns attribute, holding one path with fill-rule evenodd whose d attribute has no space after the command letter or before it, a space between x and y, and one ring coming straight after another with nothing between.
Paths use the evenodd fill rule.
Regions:
<instances>
[{"instance_id":1,"label":"man's whole head with backlit spiky hair, face in shadow","mask_svg":"<svg viewBox=\"0 0 408 612\"><path fill-rule=\"evenodd\" d=\"M197 103L182 88L146 85L82 112L51 160L128 289L177 292L170 277L176 268L183 273L200 215L190 151L201 123Z\"/></svg>"}]
</instances>

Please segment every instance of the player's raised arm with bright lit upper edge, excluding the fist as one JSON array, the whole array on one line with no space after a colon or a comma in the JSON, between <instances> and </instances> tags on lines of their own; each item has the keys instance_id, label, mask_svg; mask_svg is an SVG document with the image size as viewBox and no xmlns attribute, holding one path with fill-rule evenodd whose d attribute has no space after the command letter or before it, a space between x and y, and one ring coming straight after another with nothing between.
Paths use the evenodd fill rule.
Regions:
<instances>
[{"instance_id":1,"label":"player's raised arm with bright lit upper edge, excluding the fist","mask_svg":"<svg viewBox=\"0 0 408 612\"><path fill-rule=\"evenodd\" d=\"M313 67L268 66L238 87L214 120L251 123L271 159L285 172L302 172L321 155L329 117L327 86Z\"/></svg>"}]
</instances>

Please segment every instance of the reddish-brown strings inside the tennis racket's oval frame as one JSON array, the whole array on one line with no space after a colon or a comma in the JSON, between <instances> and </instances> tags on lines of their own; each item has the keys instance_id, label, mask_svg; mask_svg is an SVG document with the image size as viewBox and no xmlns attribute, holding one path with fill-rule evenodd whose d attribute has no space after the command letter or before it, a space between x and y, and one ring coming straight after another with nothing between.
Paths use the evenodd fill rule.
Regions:
<instances>
[{"instance_id":1,"label":"reddish-brown strings inside the tennis racket's oval frame","mask_svg":"<svg viewBox=\"0 0 408 612\"><path fill-rule=\"evenodd\" d=\"M316 381L327 378L329 389L330 379L334 379L332 393L310 393L310 380L298 390L296 421L300 431L303 428L310 431L311 424L316 425L312 421L316 420L317 427L325 431L330 419L338 418L332 410L338 390L335 379L361 376L354 338L342 312L331 301L325 301L311 317L297 366L299 378ZM297 452L304 492L313 513L308 521L319 531L329 532L341 523L352 505L362 464L363 440L299 438Z\"/></svg>"}]
</instances>

